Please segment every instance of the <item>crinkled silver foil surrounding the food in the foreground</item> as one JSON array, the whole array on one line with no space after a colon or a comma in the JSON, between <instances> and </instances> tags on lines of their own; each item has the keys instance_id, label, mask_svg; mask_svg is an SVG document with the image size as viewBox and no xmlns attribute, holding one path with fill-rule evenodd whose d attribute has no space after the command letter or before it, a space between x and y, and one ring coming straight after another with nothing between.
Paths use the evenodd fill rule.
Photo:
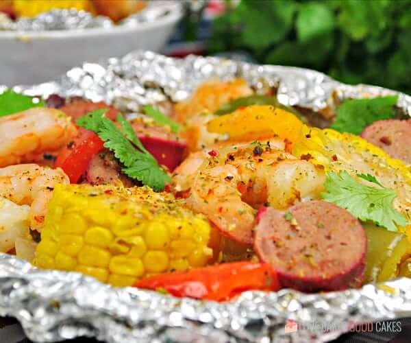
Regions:
<instances>
[{"instance_id":1,"label":"crinkled silver foil surrounding the food in the foreground","mask_svg":"<svg viewBox=\"0 0 411 343\"><path fill-rule=\"evenodd\" d=\"M411 114L408 95L341 84L317 71L213 57L177 60L149 51L87 62L56 82L14 91L86 97L134 112L142 104L186 99L210 78L234 77L257 90L275 87L282 104L320 113L351 97L399 95L397 106ZM114 288L82 274L38 270L10 255L0 255L0 294L0 316L16 317L36 342L82 335L113 343L326 342L356 324L411 316L411 279L319 294L246 292L232 302L214 303Z\"/></svg>"}]
</instances>

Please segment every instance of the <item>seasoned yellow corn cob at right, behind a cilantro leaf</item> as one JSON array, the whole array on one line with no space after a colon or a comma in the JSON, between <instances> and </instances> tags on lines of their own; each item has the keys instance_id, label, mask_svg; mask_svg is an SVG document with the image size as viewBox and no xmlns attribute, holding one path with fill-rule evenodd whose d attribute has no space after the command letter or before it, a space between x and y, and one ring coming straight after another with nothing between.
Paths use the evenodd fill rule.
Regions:
<instances>
[{"instance_id":1,"label":"seasoned yellow corn cob at right, behind a cilantro leaf","mask_svg":"<svg viewBox=\"0 0 411 343\"><path fill-rule=\"evenodd\" d=\"M304 126L301 141L295 145L292 153L315 165L322 165L326 171L346 170L352 176L376 176L384 187L397 191L393 206L411 222L410 167L391 158L379 147L353 134ZM400 229L411 240L411 226Z\"/></svg>"}]
</instances>

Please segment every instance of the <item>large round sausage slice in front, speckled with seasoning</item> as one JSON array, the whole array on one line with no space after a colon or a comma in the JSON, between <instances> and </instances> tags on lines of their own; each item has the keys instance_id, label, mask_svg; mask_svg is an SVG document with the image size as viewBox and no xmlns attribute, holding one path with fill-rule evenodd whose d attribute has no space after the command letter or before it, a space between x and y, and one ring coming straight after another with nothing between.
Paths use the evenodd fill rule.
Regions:
<instances>
[{"instance_id":1,"label":"large round sausage slice in front, speckled with seasoning","mask_svg":"<svg viewBox=\"0 0 411 343\"><path fill-rule=\"evenodd\" d=\"M315 200L289 211L267 209L256 227L254 248L283 287L319 292L361 285L366 242L364 228L348 211Z\"/></svg>"}]
</instances>

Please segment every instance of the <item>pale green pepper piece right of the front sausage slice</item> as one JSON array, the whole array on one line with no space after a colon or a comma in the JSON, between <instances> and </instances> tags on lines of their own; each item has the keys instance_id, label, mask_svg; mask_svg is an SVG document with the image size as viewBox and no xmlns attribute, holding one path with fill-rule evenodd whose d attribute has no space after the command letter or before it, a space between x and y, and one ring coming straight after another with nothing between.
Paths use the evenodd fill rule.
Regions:
<instances>
[{"instance_id":1,"label":"pale green pepper piece right of the front sausage slice","mask_svg":"<svg viewBox=\"0 0 411 343\"><path fill-rule=\"evenodd\" d=\"M399 265L411 251L406 235L382 230L373 224L363 225L368 239L366 282L383 282L399 274ZM410 275L411 276L411 275Z\"/></svg>"}]
</instances>

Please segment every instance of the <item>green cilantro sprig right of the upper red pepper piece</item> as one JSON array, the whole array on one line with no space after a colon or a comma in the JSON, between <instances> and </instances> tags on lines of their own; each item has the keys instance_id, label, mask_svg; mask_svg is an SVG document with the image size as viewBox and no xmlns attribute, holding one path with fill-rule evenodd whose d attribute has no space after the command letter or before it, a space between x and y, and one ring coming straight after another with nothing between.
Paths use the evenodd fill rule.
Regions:
<instances>
[{"instance_id":1,"label":"green cilantro sprig right of the upper red pepper piece","mask_svg":"<svg viewBox=\"0 0 411 343\"><path fill-rule=\"evenodd\" d=\"M123 173L155 191L162 191L166 183L170 182L170 176L145 149L123 116L117 115L121 125L119 129L110 119L104 117L105 112L105 109L101 109L88 113L77 119L77 125L99 135L105 142L104 146L114 152L114 156L123 163Z\"/></svg>"}]
</instances>

